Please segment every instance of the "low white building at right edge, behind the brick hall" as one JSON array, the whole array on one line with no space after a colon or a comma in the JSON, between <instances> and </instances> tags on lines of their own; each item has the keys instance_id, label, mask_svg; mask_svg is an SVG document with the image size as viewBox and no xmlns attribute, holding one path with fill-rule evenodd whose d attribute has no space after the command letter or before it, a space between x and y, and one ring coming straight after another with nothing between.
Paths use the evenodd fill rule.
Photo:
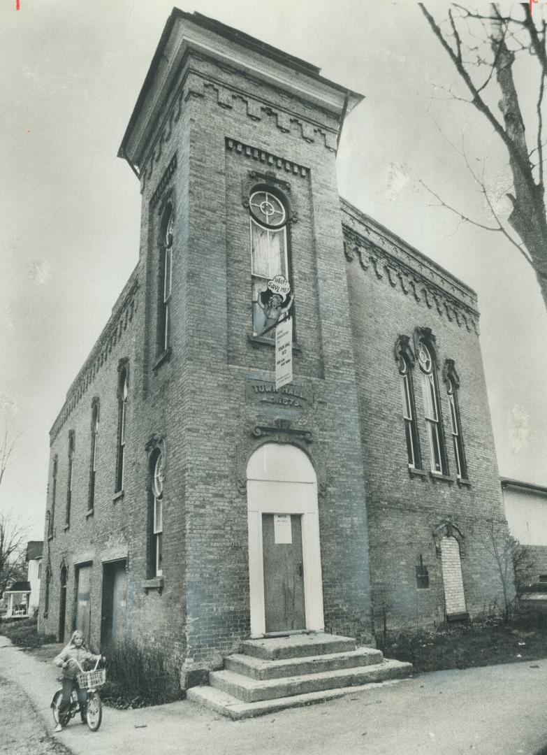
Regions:
<instances>
[{"instance_id":1,"label":"low white building at right edge, behind the brick hall","mask_svg":"<svg viewBox=\"0 0 547 755\"><path fill-rule=\"evenodd\" d=\"M547 591L547 488L501 478L509 532L525 545L536 566L536 584Z\"/></svg>"}]
</instances>

